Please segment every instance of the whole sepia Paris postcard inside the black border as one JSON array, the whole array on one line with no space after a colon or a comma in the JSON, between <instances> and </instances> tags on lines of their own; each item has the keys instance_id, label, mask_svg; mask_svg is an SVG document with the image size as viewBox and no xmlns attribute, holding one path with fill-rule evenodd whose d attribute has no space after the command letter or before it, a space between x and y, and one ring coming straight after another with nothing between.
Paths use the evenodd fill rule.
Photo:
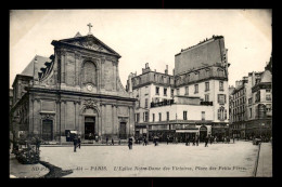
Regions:
<instances>
[{"instance_id":1,"label":"whole sepia Paris postcard inside the black border","mask_svg":"<svg viewBox=\"0 0 282 187\"><path fill-rule=\"evenodd\" d=\"M272 177L272 10L10 10L10 178Z\"/></svg>"}]
</instances>

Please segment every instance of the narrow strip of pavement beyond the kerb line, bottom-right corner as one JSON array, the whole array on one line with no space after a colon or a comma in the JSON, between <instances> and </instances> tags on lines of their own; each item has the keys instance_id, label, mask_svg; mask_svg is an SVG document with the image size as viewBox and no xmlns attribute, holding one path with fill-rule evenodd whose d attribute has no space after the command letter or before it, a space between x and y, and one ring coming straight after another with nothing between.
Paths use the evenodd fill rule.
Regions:
<instances>
[{"instance_id":1,"label":"narrow strip of pavement beyond the kerb line, bottom-right corner","mask_svg":"<svg viewBox=\"0 0 282 187\"><path fill-rule=\"evenodd\" d=\"M257 164L257 177L272 177L272 146L271 143L261 143Z\"/></svg>"}]
</instances>

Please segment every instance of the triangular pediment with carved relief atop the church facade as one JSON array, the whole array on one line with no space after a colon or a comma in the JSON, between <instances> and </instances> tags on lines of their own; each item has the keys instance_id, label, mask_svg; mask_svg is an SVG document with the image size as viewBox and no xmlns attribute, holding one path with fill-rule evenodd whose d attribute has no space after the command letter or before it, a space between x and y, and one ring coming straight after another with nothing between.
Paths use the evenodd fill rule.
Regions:
<instances>
[{"instance_id":1,"label":"triangular pediment with carved relief atop the church facade","mask_svg":"<svg viewBox=\"0 0 282 187\"><path fill-rule=\"evenodd\" d=\"M75 37L75 38L70 38L70 39L64 39L64 40L60 40L60 42L80 46L80 48L84 48L87 50L108 53L108 54L113 54L113 55L120 57L120 55L118 53L116 53L114 50L112 50L110 46L107 46L105 43L103 43L101 40L99 40L98 38L95 38L92 35L85 36L85 37Z\"/></svg>"}]
</instances>

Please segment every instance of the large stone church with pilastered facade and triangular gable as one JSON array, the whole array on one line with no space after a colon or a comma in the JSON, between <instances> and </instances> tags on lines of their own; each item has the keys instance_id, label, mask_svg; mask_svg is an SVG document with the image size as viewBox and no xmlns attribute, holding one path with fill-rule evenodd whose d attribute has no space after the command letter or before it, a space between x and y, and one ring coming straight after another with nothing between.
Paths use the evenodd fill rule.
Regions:
<instances>
[{"instance_id":1,"label":"large stone church with pilastered facade and triangular gable","mask_svg":"<svg viewBox=\"0 0 282 187\"><path fill-rule=\"evenodd\" d=\"M133 135L136 99L119 79L121 56L90 30L51 44L54 54L36 55L13 82L14 129L57 143L65 142L66 130L82 139Z\"/></svg>"}]
</instances>

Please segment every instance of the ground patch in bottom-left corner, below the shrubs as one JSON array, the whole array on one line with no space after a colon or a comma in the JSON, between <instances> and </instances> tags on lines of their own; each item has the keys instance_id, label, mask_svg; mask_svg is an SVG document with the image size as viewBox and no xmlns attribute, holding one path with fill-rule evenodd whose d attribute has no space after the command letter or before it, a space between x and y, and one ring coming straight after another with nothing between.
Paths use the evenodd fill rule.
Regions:
<instances>
[{"instance_id":1,"label":"ground patch in bottom-left corner, below the shrubs","mask_svg":"<svg viewBox=\"0 0 282 187\"><path fill-rule=\"evenodd\" d=\"M41 164L22 164L10 153L10 178L38 178L49 173Z\"/></svg>"}]
</instances>

